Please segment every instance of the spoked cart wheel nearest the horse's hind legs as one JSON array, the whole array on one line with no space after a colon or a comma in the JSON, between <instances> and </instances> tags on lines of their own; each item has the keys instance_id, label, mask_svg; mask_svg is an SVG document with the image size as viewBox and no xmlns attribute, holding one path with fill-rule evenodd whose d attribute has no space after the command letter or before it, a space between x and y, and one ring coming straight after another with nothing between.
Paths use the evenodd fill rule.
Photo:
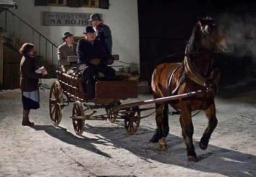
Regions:
<instances>
[{"instance_id":1,"label":"spoked cart wheel nearest the horse's hind legs","mask_svg":"<svg viewBox=\"0 0 256 177\"><path fill-rule=\"evenodd\" d=\"M132 135L137 131L139 122L141 122L141 111L139 111L138 107L128 108L126 111L127 113L124 114L124 127L125 131Z\"/></svg>"}]
</instances>

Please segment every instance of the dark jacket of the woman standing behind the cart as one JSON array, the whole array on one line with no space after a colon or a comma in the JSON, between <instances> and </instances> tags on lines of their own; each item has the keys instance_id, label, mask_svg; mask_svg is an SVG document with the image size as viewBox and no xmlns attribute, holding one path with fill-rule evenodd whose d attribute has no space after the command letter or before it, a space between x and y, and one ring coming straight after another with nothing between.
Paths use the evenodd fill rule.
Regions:
<instances>
[{"instance_id":1,"label":"dark jacket of the woman standing behind the cart","mask_svg":"<svg viewBox=\"0 0 256 177\"><path fill-rule=\"evenodd\" d=\"M24 55L20 61L20 88L22 92L32 92L39 90L38 79L43 75L36 73L38 69L34 57Z\"/></svg>"}]
</instances>

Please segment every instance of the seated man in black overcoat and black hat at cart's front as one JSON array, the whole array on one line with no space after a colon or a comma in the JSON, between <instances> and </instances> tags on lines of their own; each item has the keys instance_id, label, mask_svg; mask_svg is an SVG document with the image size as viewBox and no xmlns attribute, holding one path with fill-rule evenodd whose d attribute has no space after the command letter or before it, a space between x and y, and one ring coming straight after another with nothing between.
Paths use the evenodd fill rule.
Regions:
<instances>
[{"instance_id":1,"label":"seated man in black overcoat and black hat at cart's front","mask_svg":"<svg viewBox=\"0 0 256 177\"><path fill-rule=\"evenodd\" d=\"M94 76L98 72L104 76L114 77L115 70L107 66L113 64L113 58L104 51L105 45L100 40L95 39L95 29L92 26L85 28L84 39L78 40L77 55L78 62L77 68L84 76L85 90L89 95L89 99L95 97L95 83Z\"/></svg>"}]
</instances>

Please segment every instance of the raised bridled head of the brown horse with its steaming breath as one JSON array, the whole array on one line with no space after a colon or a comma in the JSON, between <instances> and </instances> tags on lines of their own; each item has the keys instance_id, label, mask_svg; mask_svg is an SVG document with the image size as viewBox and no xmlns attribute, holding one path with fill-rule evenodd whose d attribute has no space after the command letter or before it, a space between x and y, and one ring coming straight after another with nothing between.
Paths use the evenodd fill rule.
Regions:
<instances>
[{"instance_id":1,"label":"raised bridled head of the brown horse with its steaming breath","mask_svg":"<svg viewBox=\"0 0 256 177\"><path fill-rule=\"evenodd\" d=\"M200 37L200 48L213 52L228 52L232 50L231 40L214 23L213 17L199 18L197 22L197 35Z\"/></svg>"}]
</instances>

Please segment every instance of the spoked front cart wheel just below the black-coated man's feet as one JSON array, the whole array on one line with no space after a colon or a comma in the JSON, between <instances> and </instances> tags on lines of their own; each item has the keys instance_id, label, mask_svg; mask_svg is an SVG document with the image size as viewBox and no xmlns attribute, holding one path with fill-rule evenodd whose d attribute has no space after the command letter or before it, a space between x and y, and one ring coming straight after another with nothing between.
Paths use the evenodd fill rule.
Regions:
<instances>
[{"instance_id":1,"label":"spoked front cart wheel just below the black-coated man's feet","mask_svg":"<svg viewBox=\"0 0 256 177\"><path fill-rule=\"evenodd\" d=\"M75 101L72 109L72 116L84 116L82 103ZM84 120L72 119L74 131L77 135L82 135L84 132Z\"/></svg>"}]
</instances>

